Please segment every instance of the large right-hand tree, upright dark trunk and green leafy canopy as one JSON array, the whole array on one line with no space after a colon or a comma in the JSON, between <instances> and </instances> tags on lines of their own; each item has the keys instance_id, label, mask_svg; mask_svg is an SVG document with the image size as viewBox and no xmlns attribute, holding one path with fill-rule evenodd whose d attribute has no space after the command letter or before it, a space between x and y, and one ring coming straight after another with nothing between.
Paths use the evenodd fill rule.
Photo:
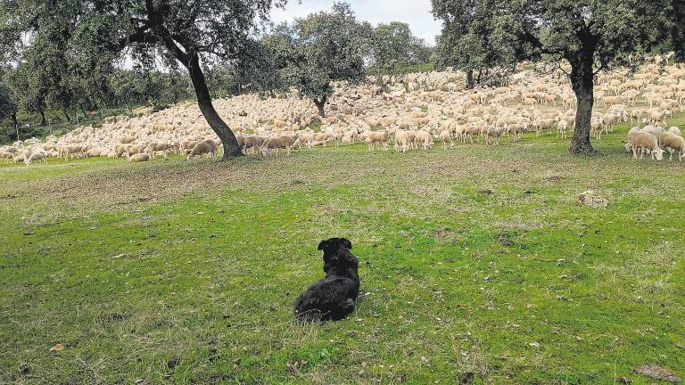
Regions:
<instances>
[{"instance_id":1,"label":"large right-hand tree, upright dark trunk and green leafy canopy","mask_svg":"<svg viewBox=\"0 0 685 385\"><path fill-rule=\"evenodd\" d=\"M635 53L648 53L664 39L682 47L676 27L685 4L680 0L432 0L433 14L444 20L445 44L468 34L476 41L517 51L516 59L536 60L542 54L571 64L568 77L577 99L576 127L569 151L593 154L590 118L593 79L601 70L627 63ZM473 17L490 10L487 28ZM461 27L459 27L461 26ZM520 49L519 49L520 48ZM460 48L459 48L460 49Z\"/></svg>"}]
</instances>

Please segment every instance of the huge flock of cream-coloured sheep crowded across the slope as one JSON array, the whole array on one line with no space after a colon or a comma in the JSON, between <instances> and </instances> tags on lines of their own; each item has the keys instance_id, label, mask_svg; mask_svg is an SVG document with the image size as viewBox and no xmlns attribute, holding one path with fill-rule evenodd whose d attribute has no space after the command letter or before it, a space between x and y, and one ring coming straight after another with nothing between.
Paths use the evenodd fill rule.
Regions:
<instances>
[{"instance_id":1,"label":"huge flock of cream-coloured sheep crowded across the slope","mask_svg":"<svg viewBox=\"0 0 685 385\"><path fill-rule=\"evenodd\" d=\"M436 141L442 148L479 141L497 145L502 136L519 141L534 132L566 138L574 129L574 93L561 70L544 64L522 64L508 86L475 90L466 90L465 74L452 70L409 74L395 84L383 80L384 87L336 84L318 132L309 128L318 119L314 104L294 94L266 100L241 95L216 100L215 107L243 151L263 155L358 142L367 143L369 151L389 150L393 142L399 152L429 150ZM685 158L680 130L665 128L666 119L683 111L685 69L651 62L635 73L602 73L596 101L591 119L596 139L630 120L646 126L633 128L625 144L634 156L651 153L661 160L669 151ZM45 143L13 143L0 147L0 159L27 165L47 158L145 161L170 152L191 159L216 156L220 144L198 107L186 102L135 118L107 118L102 127L78 127Z\"/></svg>"}]
</instances>

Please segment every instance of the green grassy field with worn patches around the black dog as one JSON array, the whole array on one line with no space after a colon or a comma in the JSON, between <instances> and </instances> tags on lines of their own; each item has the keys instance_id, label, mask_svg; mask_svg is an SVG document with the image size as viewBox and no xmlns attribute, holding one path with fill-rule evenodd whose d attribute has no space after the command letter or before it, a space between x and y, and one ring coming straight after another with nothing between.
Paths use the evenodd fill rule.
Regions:
<instances>
[{"instance_id":1,"label":"green grassy field with worn patches around the black dog","mask_svg":"<svg viewBox=\"0 0 685 385\"><path fill-rule=\"evenodd\" d=\"M594 159L529 135L0 166L0 383L685 377L685 162L632 160L625 132ZM298 324L332 236L361 261L358 311Z\"/></svg>"}]
</instances>

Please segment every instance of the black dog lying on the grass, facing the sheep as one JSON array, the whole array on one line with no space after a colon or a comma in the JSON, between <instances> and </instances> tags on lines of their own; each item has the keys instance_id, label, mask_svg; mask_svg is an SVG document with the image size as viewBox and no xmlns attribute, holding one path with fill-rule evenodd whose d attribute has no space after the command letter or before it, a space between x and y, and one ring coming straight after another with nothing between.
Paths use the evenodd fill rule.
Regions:
<instances>
[{"instance_id":1,"label":"black dog lying on the grass, facing the sheep","mask_svg":"<svg viewBox=\"0 0 685 385\"><path fill-rule=\"evenodd\" d=\"M324 250L326 278L295 299L295 317L301 321L336 321L354 311L359 295L359 259L352 255L351 248L352 243L344 238L318 244L318 250Z\"/></svg>"}]
</instances>

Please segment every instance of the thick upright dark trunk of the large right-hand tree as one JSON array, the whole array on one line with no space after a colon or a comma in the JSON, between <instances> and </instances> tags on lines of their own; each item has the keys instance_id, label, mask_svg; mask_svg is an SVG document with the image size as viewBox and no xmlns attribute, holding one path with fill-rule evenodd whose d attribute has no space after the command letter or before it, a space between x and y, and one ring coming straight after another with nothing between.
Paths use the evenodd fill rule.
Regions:
<instances>
[{"instance_id":1,"label":"thick upright dark trunk of the large right-hand tree","mask_svg":"<svg viewBox=\"0 0 685 385\"><path fill-rule=\"evenodd\" d=\"M590 143L590 120L592 119L592 107L595 103L593 57L594 52L581 52L569 60L571 62L571 86L577 101L574 137L569 148L569 152L574 155L596 153Z\"/></svg>"}]
</instances>

